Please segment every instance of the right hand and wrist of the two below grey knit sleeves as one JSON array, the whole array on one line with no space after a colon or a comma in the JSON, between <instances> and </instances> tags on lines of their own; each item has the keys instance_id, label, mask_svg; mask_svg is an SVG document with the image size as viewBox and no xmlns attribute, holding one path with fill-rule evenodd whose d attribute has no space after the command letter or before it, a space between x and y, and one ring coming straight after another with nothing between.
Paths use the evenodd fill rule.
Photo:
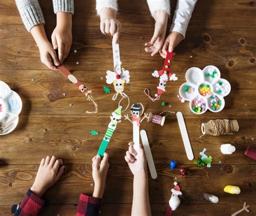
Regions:
<instances>
[{"instance_id":1,"label":"right hand and wrist of the two below grey knit sleeves","mask_svg":"<svg viewBox=\"0 0 256 216\"><path fill-rule=\"evenodd\" d=\"M72 15L57 13L57 25L51 35L53 49L58 49L60 64L68 57L72 45Z\"/></svg>"}]
</instances>

